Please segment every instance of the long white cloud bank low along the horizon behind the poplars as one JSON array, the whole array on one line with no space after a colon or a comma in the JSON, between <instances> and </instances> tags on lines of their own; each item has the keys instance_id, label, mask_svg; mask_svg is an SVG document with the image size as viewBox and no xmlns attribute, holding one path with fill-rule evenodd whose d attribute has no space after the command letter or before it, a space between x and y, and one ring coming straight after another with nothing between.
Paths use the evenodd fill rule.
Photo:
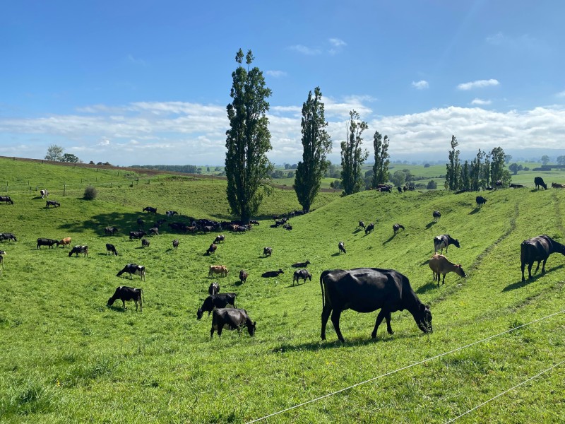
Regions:
<instances>
[{"instance_id":1,"label":"long white cloud bank low along the horizon behind the poplars","mask_svg":"<svg viewBox=\"0 0 565 424\"><path fill-rule=\"evenodd\" d=\"M369 124L364 148L372 158L373 134L391 140L389 153L447 154L451 135L461 151L502 148L562 148L565 107L496 112L481 107L442 107L425 112L376 116L367 103L374 99L351 96L324 98L328 132L333 139L333 162L340 160L349 111L357 110ZM478 100L478 99L477 99ZM297 163L302 158L300 107L273 106L268 114L274 163ZM222 165L228 121L223 105L189 102L134 102L122 107L93 105L70 115L8 119L0 117L0 155L43 158L58 144L81 160L114 165Z\"/></svg>"}]
</instances>

